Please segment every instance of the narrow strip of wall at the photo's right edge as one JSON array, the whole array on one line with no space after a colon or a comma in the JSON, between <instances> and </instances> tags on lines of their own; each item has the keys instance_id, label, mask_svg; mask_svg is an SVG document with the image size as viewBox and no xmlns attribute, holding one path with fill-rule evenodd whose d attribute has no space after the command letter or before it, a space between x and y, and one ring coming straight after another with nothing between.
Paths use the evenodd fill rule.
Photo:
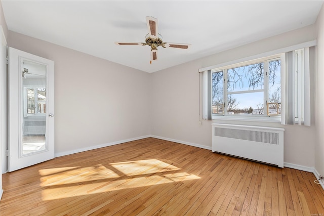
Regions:
<instances>
[{"instance_id":1,"label":"narrow strip of wall at the photo's right edge","mask_svg":"<svg viewBox=\"0 0 324 216\"><path fill-rule=\"evenodd\" d=\"M315 126L315 168L324 176L324 6L316 20L316 126Z\"/></svg>"}]
</instances>

